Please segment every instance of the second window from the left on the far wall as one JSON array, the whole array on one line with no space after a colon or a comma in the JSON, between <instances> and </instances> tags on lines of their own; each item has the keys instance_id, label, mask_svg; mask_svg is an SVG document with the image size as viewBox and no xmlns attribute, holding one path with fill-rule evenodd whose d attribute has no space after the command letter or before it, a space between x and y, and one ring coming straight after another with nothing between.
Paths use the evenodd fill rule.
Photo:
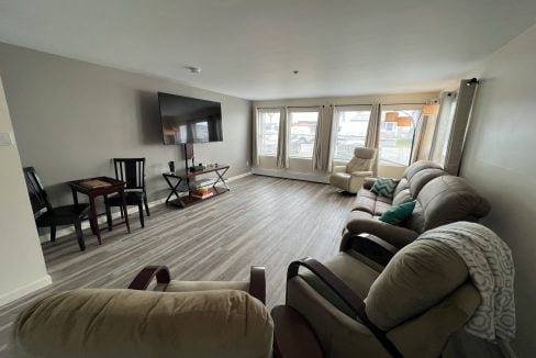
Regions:
<instances>
[{"instance_id":1,"label":"second window from the left on the far wall","mask_svg":"<svg viewBox=\"0 0 536 358\"><path fill-rule=\"evenodd\" d=\"M289 157L311 159L319 123L319 109L289 109Z\"/></svg>"}]
</instances>

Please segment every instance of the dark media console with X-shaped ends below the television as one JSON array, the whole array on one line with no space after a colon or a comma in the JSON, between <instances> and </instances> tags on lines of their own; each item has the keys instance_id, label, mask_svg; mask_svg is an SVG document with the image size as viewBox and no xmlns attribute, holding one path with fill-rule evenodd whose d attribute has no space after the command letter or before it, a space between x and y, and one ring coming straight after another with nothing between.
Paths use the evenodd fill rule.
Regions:
<instances>
[{"instance_id":1,"label":"dark media console with X-shaped ends below the television","mask_svg":"<svg viewBox=\"0 0 536 358\"><path fill-rule=\"evenodd\" d=\"M171 192L166 199L166 204L172 204L179 208L186 208L230 191L227 183L223 178L223 176L227 172L227 170L228 170L228 166L214 165L214 166L209 166L203 170L192 171L190 169L186 169L186 170L177 170L176 172L163 174L164 179L166 179L166 182L168 183L169 189L171 190ZM212 187L211 188L212 195L208 198L193 197L192 192L194 191L194 189L190 187L191 181L194 180L198 176L212 174L212 172L217 176L216 178L214 178L215 181L210 183L210 186ZM180 190L180 186L185 182L188 187L188 190ZM222 186L219 186L219 183L221 183ZM188 195L181 197L180 195L181 192L188 192ZM171 197L174 195L176 197L176 199L171 199Z\"/></svg>"}]
</instances>

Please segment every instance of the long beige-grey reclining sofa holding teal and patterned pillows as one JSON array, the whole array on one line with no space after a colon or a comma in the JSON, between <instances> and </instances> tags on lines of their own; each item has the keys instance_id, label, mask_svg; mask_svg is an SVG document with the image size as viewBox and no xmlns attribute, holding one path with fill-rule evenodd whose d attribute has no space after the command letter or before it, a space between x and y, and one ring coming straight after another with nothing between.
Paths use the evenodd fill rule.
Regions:
<instances>
[{"instance_id":1,"label":"long beige-grey reclining sofa holding teal and patterned pillows","mask_svg":"<svg viewBox=\"0 0 536 358\"><path fill-rule=\"evenodd\" d=\"M392 200L370 191L373 181L373 178L367 178L357 193L340 248L357 245L355 249L367 257L376 256L372 259L382 265L392 256L383 257L386 249L394 253L427 230L457 221L477 222L490 211L488 201L467 180L448 175L432 161L417 161L407 167ZM413 215L402 225L378 220L392 205L412 200L416 200ZM365 240L364 235L372 237ZM371 253L375 250L376 255Z\"/></svg>"}]
</instances>

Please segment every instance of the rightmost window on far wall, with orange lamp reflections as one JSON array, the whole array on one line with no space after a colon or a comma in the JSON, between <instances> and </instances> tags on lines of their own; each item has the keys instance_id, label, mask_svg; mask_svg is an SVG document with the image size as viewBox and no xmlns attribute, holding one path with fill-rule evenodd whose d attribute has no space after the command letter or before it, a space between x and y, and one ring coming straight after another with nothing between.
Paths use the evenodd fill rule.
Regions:
<instances>
[{"instance_id":1,"label":"rightmost window on far wall, with orange lamp reflections","mask_svg":"<svg viewBox=\"0 0 536 358\"><path fill-rule=\"evenodd\" d=\"M407 166L411 159L413 133L421 116L420 109L389 109L381 111L380 164Z\"/></svg>"}]
</instances>

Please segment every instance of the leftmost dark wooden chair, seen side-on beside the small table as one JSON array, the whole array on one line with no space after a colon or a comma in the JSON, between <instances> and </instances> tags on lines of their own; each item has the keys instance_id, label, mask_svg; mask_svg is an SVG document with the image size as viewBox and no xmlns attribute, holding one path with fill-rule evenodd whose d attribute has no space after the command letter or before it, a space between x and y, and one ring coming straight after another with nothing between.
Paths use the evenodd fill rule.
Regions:
<instances>
[{"instance_id":1,"label":"leftmost dark wooden chair, seen side-on beside the small table","mask_svg":"<svg viewBox=\"0 0 536 358\"><path fill-rule=\"evenodd\" d=\"M51 242L56 240L56 227L63 225L75 225L76 236L80 250L86 249L83 242L81 222L88 216L89 205L65 205L53 208L48 201L45 188L33 167L24 168L27 193L32 202L32 210L35 215L37 227L51 227ZM45 209L45 212L41 213Z\"/></svg>"}]
</instances>

